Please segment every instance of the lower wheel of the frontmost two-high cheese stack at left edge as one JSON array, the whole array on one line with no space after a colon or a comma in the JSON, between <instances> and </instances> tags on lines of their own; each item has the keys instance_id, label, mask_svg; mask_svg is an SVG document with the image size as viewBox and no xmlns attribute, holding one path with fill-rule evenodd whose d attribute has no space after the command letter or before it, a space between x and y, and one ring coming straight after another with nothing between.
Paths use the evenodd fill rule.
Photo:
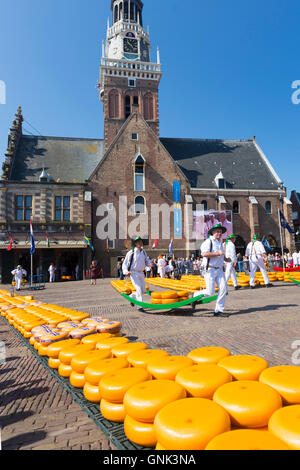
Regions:
<instances>
[{"instance_id":1,"label":"lower wheel of the frontmost two-high cheese stack at left edge","mask_svg":"<svg viewBox=\"0 0 300 470\"><path fill-rule=\"evenodd\" d=\"M131 416L126 416L124 421L124 432L126 437L135 444L143 447L155 447L157 437L154 425L136 421Z\"/></svg>"}]
</instances>

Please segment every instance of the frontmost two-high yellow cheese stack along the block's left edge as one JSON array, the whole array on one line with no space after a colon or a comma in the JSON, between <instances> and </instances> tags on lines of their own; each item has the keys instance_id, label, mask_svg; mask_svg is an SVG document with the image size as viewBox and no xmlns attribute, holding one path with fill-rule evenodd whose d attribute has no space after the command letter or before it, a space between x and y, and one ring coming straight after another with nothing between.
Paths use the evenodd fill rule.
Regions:
<instances>
[{"instance_id":1,"label":"frontmost two-high yellow cheese stack along the block's left edge","mask_svg":"<svg viewBox=\"0 0 300 470\"><path fill-rule=\"evenodd\" d=\"M128 439L144 447L157 444L154 420L167 404L185 398L185 390L171 380L151 380L131 387L124 396Z\"/></svg>"}]
</instances>

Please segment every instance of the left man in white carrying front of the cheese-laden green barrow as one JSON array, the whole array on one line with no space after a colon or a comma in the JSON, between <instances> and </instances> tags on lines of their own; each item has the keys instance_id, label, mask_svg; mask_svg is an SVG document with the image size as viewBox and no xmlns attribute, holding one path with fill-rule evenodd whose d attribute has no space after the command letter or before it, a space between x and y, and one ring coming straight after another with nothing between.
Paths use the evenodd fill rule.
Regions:
<instances>
[{"instance_id":1,"label":"left man in white carrying front of the cheese-laden green barrow","mask_svg":"<svg viewBox=\"0 0 300 470\"><path fill-rule=\"evenodd\" d=\"M132 242L132 250L130 250L122 265L124 276L130 276L131 282L134 285L136 292L133 292L130 297L139 302L143 302L143 294L146 292L145 285L145 268L150 267L150 259L143 248L143 240L137 237ZM134 306L134 304L131 304ZM144 309L138 306L140 312Z\"/></svg>"}]
</instances>

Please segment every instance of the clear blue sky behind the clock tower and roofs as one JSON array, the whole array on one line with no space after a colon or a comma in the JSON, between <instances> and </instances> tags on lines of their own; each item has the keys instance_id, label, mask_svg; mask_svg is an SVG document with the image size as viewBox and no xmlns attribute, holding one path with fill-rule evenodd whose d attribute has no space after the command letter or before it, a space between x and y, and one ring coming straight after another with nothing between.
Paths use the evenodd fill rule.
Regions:
<instances>
[{"instance_id":1,"label":"clear blue sky behind the clock tower and roofs","mask_svg":"<svg viewBox=\"0 0 300 470\"><path fill-rule=\"evenodd\" d=\"M26 130L103 137L99 78L110 0L1 2L0 155L18 105ZM300 5L297 0L144 0L152 59L160 47L162 137L257 142L300 191Z\"/></svg>"}]
</instances>

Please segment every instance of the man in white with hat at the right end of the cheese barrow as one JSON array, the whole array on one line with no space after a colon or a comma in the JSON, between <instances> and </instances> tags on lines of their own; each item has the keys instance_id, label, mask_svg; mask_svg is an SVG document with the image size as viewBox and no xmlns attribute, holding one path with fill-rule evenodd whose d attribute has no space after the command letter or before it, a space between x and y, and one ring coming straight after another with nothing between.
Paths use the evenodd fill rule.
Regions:
<instances>
[{"instance_id":1,"label":"man in white with hat at the right end of the cheese barrow","mask_svg":"<svg viewBox=\"0 0 300 470\"><path fill-rule=\"evenodd\" d=\"M204 258L204 279L206 289L194 294L204 293L206 296L213 296L216 291L216 284L219 288L219 294L215 306L215 317L228 317L224 313L227 286L225 274L223 271L224 261L231 262L230 258L225 257L225 251L222 243L222 235L226 228L221 224L214 225L208 232L209 238L201 245L201 254Z\"/></svg>"}]
</instances>

